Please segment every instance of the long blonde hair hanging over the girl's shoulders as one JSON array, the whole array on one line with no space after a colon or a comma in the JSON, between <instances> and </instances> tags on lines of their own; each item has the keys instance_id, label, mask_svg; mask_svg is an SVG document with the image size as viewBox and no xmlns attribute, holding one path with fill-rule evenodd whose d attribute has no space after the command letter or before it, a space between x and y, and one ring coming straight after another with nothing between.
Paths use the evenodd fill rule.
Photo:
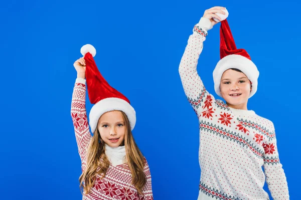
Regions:
<instances>
[{"instance_id":1,"label":"long blonde hair hanging over the girl's shoulders","mask_svg":"<svg viewBox=\"0 0 301 200\"><path fill-rule=\"evenodd\" d=\"M142 188L146 183L146 176L144 173L144 156L139 150L129 125L129 120L123 111L120 111L126 126L124 135L124 145L126 161L128 163L132 181L131 183L136 187L139 194L142 194ZM100 137L98 128L96 128L94 135L89 143L87 150L87 164L79 177L80 187L84 193L89 193L93 187L96 175L99 174L101 178L104 178L110 161L105 154L104 141Z\"/></svg>"}]
</instances>

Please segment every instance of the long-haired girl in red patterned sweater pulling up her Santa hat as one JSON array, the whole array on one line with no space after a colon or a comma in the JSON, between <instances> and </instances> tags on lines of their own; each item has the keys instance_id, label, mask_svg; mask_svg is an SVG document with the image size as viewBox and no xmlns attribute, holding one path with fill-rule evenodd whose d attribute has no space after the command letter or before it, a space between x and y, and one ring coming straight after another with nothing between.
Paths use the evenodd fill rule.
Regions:
<instances>
[{"instance_id":1,"label":"long-haired girl in red patterned sweater pulling up her Santa hat","mask_svg":"<svg viewBox=\"0 0 301 200\"><path fill-rule=\"evenodd\" d=\"M153 199L149 167L131 133L135 110L98 71L92 57L95 48L86 44L81 53L84 57L74 62L77 79L71 116L81 158L83 199ZM85 108L86 82L94 104L89 114L93 136Z\"/></svg>"}]
</instances>

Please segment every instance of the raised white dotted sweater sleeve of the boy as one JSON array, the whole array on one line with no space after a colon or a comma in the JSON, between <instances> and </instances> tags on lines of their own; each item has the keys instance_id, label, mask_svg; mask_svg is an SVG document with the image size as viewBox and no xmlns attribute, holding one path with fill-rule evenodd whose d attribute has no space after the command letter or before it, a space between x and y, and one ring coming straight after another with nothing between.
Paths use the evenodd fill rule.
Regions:
<instances>
[{"instance_id":1,"label":"raised white dotted sweater sleeve of the boy","mask_svg":"<svg viewBox=\"0 0 301 200\"><path fill-rule=\"evenodd\" d=\"M207 107L205 105L206 99L209 98L209 101L212 101L213 98L213 96L207 92L197 72L198 59L203 50L203 41L205 41L207 36L206 29L208 28L204 27L208 26L208 22L209 25L211 25L208 19L207 21L202 19L204 18L201 18L200 22L193 28L193 34L190 35L188 39L188 44L179 66L179 73L185 94L198 116L200 114L200 108Z\"/></svg>"}]
</instances>

